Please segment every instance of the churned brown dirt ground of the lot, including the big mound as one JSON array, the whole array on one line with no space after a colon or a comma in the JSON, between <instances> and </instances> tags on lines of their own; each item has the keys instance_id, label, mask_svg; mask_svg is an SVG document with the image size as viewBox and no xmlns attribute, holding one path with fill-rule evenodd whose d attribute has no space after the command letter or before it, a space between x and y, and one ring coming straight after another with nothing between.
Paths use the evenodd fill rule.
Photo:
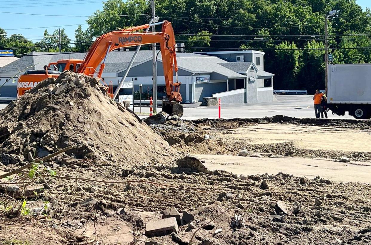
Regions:
<instances>
[{"instance_id":1,"label":"churned brown dirt ground of the lot, including the big mound","mask_svg":"<svg viewBox=\"0 0 371 245\"><path fill-rule=\"evenodd\" d=\"M12 119L1 169L32 164L0 179L0 244L370 244L369 121L147 126L96 83L72 83L59 96L39 87L1 112L3 125ZM46 130L30 130L36 120ZM37 161L40 146L65 145L62 158ZM29 183L40 192L26 192ZM193 218L177 234L146 236L167 208Z\"/></svg>"}]
</instances>

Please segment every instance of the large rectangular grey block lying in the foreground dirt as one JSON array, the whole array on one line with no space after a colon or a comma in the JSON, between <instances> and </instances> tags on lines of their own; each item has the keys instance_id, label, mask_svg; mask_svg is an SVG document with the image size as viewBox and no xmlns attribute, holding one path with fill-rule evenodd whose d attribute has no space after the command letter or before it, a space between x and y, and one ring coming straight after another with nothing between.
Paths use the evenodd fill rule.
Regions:
<instances>
[{"instance_id":1,"label":"large rectangular grey block lying in the foreground dirt","mask_svg":"<svg viewBox=\"0 0 371 245\"><path fill-rule=\"evenodd\" d=\"M178 233L178 224L175 217L150 221L145 225L145 235L148 237L165 236L172 232Z\"/></svg>"}]
</instances>

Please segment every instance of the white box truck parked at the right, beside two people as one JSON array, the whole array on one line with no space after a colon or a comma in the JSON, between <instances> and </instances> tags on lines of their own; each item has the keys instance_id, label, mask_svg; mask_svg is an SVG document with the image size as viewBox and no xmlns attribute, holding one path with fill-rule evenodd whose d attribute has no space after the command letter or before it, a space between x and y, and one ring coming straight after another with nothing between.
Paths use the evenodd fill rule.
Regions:
<instances>
[{"instance_id":1,"label":"white box truck parked at the right, beside two people","mask_svg":"<svg viewBox=\"0 0 371 245\"><path fill-rule=\"evenodd\" d=\"M330 64L327 103L333 114L371 118L371 64Z\"/></svg>"}]
</instances>

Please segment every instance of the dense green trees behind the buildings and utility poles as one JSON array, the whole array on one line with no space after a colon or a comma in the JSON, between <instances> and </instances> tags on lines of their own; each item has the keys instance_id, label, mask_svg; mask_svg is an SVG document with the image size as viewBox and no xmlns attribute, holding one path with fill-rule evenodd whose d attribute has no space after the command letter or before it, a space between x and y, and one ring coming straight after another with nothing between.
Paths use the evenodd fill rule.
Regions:
<instances>
[{"instance_id":1,"label":"dense green trees behind the buildings and utility poles","mask_svg":"<svg viewBox=\"0 0 371 245\"><path fill-rule=\"evenodd\" d=\"M187 52L254 49L265 52L265 70L275 73L276 89L324 89L325 16L328 21L329 53L336 63L371 62L371 12L356 0L162 0L156 1L156 15L172 22L177 42ZM107 0L86 20L88 28L75 31L75 45L62 34L63 51L89 49L95 36L138 26L150 20L149 0ZM157 29L158 30L158 29ZM4 37L3 48L32 46L22 36ZM366 34L358 35L357 34ZM58 43L58 30L47 31L36 46ZM145 47L143 47L145 48ZM226 49L228 48L228 49ZM24 47L16 53L37 50ZM44 51L56 52L58 46ZM311 91L310 91L311 92Z\"/></svg>"}]
</instances>

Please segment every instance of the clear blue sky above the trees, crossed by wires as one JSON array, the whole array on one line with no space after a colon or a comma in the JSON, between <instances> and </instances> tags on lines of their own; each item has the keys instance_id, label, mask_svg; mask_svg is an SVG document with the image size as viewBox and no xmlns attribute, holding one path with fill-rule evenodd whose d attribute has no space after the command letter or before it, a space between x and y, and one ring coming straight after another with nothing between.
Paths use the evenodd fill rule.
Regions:
<instances>
[{"instance_id":1,"label":"clear blue sky above the trees, crossed by wires","mask_svg":"<svg viewBox=\"0 0 371 245\"><path fill-rule=\"evenodd\" d=\"M23 6L24 3L27 3L27 6ZM371 8L370 0L357 0L357 3L361 5L363 9L366 7ZM0 12L0 27L6 29L9 35L23 34L27 39L38 42L39 40L37 39L42 39L45 29L47 29L49 33L52 33L55 29L58 29L58 27L37 29L19 28L65 26L64 28L67 35L73 40L75 29L78 27L78 24L82 24L84 30L88 26L86 24L86 19L88 19L88 17L38 16L16 13L90 16L96 10L102 9L102 6L103 4L100 0L0 0L0 11L13 12Z\"/></svg>"}]
</instances>

